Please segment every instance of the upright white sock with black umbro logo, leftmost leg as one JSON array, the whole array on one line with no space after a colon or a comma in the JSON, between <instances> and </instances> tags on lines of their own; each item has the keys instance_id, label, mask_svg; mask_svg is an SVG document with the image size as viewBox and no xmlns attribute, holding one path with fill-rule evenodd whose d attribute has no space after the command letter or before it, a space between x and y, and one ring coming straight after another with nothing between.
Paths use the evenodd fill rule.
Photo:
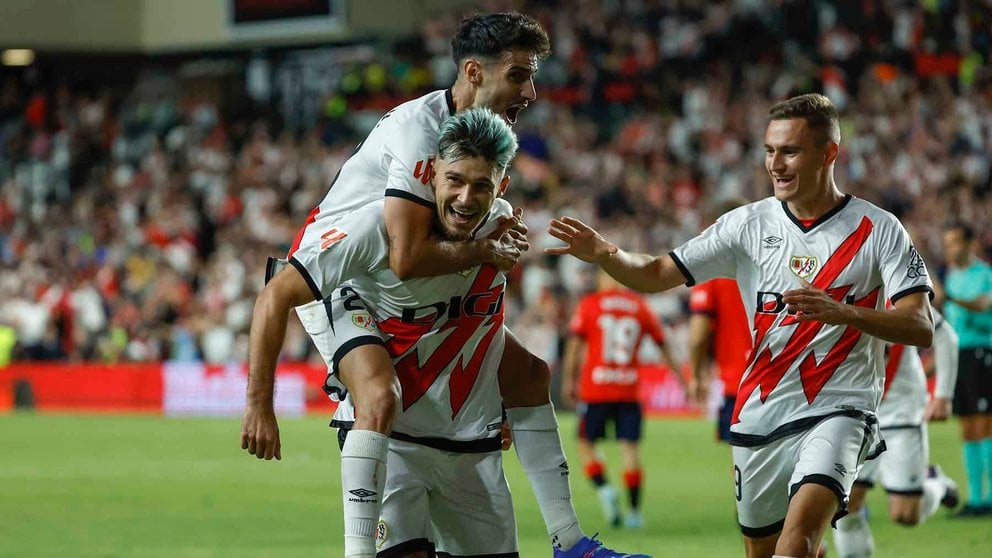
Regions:
<instances>
[{"instance_id":1,"label":"upright white sock with black umbro logo, leftmost leg","mask_svg":"<svg viewBox=\"0 0 992 558\"><path fill-rule=\"evenodd\" d=\"M371 430L352 430L341 448L345 558L375 558L388 450L389 438Z\"/></svg>"}]
</instances>

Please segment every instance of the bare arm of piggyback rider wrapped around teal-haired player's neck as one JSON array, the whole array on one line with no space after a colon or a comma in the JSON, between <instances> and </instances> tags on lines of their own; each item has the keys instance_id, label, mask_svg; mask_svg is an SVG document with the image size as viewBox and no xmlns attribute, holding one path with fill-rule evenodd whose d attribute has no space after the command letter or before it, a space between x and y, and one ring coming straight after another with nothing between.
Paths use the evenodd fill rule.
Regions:
<instances>
[{"instance_id":1,"label":"bare arm of piggyback rider wrapped around teal-haired player's neck","mask_svg":"<svg viewBox=\"0 0 992 558\"><path fill-rule=\"evenodd\" d=\"M493 264L509 271L519 252L526 251L527 227L519 210L488 238L477 240L443 240L431 234L434 209L410 200L387 196L385 202L386 234L389 236L389 267L400 279L436 277L457 273L481 264ZM516 254L500 242L510 235Z\"/></svg>"}]
</instances>

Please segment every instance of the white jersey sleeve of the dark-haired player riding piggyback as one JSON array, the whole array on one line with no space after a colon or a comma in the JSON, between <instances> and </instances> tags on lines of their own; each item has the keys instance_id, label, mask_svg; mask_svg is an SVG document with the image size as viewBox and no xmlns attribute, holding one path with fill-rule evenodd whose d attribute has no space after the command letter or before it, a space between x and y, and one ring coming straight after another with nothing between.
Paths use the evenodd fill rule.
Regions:
<instances>
[{"instance_id":1,"label":"white jersey sleeve of the dark-haired player riding piggyback","mask_svg":"<svg viewBox=\"0 0 992 558\"><path fill-rule=\"evenodd\" d=\"M437 152L438 129L427 117L412 117L384 128L389 134L384 147L389 172L386 197L410 200L434 209L431 174Z\"/></svg>"}]
</instances>

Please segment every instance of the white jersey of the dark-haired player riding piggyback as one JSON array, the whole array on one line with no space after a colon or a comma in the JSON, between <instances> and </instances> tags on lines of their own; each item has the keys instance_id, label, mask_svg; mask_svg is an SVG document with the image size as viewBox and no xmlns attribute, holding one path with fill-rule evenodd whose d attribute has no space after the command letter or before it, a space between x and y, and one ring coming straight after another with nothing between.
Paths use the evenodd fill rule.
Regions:
<instances>
[{"instance_id":1,"label":"white jersey of the dark-haired player riding piggyback","mask_svg":"<svg viewBox=\"0 0 992 558\"><path fill-rule=\"evenodd\" d=\"M387 112L369 132L310 212L289 256L302 243L320 243L320 235L343 215L384 196L405 198L430 208L430 177L441 124L455 106L450 90L434 91ZM319 231L318 231L319 230Z\"/></svg>"}]
</instances>

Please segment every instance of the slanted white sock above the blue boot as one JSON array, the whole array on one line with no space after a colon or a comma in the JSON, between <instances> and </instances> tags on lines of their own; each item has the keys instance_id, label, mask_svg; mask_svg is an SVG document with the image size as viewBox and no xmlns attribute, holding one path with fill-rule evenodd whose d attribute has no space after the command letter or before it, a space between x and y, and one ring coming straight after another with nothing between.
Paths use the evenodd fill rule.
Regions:
<instances>
[{"instance_id":1,"label":"slanted white sock above the blue boot","mask_svg":"<svg viewBox=\"0 0 992 558\"><path fill-rule=\"evenodd\" d=\"M558 436L558 419L548 403L539 407L514 407L506 410L513 431L513 446L523 466L551 543L567 550L585 534L572 507L572 488L568 484L568 461Z\"/></svg>"}]
</instances>

